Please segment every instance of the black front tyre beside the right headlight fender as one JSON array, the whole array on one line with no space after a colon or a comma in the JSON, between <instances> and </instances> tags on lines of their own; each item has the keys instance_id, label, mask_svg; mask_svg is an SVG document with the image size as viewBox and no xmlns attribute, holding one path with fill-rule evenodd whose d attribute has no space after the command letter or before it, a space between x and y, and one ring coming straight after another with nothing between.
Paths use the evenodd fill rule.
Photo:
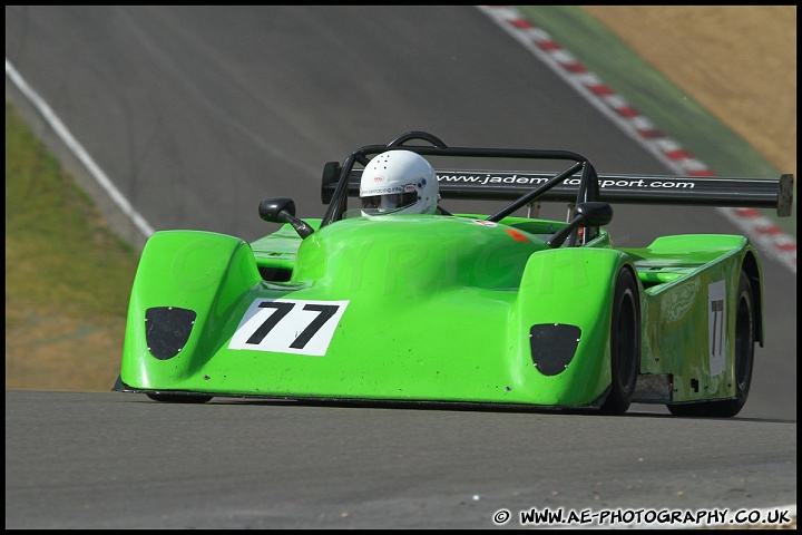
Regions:
<instances>
[{"instance_id":1,"label":"black front tyre beside the right headlight fender","mask_svg":"<svg viewBox=\"0 0 802 535\"><path fill-rule=\"evenodd\" d=\"M640 364L640 303L635 275L624 268L616 279L610 318L610 390L602 405L606 415L623 415L632 403Z\"/></svg>"}]
</instances>

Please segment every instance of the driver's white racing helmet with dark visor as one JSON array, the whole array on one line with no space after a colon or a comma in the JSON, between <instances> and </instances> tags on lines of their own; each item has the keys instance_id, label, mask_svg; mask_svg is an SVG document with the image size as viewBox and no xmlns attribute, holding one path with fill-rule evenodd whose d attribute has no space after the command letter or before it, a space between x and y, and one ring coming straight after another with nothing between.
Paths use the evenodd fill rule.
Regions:
<instances>
[{"instance_id":1,"label":"driver's white racing helmet with dark visor","mask_svg":"<svg viewBox=\"0 0 802 535\"><path fill-rule=\"evenodd\" d=\"M371 159L360 182L362 215L433 214L440 198L431 164L411 150L388 150Z\"/></svg>"}]
</instances>

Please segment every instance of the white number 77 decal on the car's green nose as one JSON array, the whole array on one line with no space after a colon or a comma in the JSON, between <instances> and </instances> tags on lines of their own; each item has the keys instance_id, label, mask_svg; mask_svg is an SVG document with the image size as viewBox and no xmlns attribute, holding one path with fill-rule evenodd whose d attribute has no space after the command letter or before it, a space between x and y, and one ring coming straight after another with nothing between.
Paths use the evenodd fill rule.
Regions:
<instances>
[{"instance_id":1,"label":"white number 77 decal on the car's green nose","mask_svg":"<svg viewBox=\"0 0 802 535\"><path fill-rule=\"evenodd\" d=\"M228 349L322 357L348 301L257 299L239 321Z\"/></svg>"}]
</instances>

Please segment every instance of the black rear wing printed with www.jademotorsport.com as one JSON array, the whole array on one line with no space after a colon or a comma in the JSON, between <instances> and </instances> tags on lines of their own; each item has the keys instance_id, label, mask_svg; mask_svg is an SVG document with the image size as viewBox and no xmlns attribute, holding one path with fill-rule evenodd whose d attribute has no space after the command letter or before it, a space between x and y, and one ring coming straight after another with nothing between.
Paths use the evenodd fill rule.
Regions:
<instances>
[{"instance_id":1,"label":"black rear wing printed with www.jademotorsport.com","mask_svg":"<svg viewBox=\"0 0 802 535\"><path fill-rule=\"evenodd\" d=\"M322 198L329 204L339 181L334 166L323 174ZM534 187L546 184L555 173L498 171L437 171L442 198L515 201ZM352 169L348 195L359 196L362 169ZM538 201L573 203L580 177L566 178L544 193ZM774 208L782 217L791 215L793 175L780 178L720 178L671 175L598 175L599 201L612 204L674 204Z\"/></svg>"}]
</instances>

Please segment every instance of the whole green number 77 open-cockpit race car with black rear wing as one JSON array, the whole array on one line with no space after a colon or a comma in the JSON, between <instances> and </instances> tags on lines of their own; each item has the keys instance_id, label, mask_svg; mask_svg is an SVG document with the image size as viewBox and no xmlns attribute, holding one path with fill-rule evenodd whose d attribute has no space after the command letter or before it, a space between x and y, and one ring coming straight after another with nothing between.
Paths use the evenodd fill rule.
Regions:
<instances>
[{"instance_id":1,"label":"whole green number 77 open-cockpit race car with black rear wing","mask_svg":"<svg viewBox=\"0 0 802 535\"><path fill-rule=\"evenodd\" d=\"M371 158L395 149L438 162L443 200L508 204L485 215L350 208ZM489 171L466 171L476 160ZM530 166L556 171L520 171ZM603 227L610 203L775 207L786 216L792 182L599 175L573 152L449 147L410 132L325 164L321 218L297 218L292 200L271 197L260 214L283 225L253 243L156 232L134 281L114 390L167 402L605 414L649 402L732 417L764 341L755 246L742 235L693 234L614 247ZM569 221L532 215L546 202L566 203Z\"/></svg>"}]
</instances>

